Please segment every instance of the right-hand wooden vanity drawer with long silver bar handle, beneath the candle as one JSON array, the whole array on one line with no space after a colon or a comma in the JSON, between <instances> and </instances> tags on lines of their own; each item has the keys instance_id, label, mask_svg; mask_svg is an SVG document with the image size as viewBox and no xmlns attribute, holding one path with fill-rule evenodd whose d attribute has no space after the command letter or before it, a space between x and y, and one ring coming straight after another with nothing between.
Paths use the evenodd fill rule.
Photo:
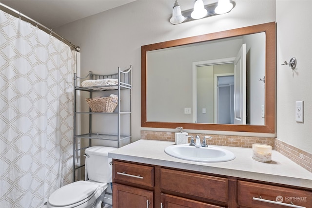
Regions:
<instances>
[{"instance_id":1,"label":"right-hand wooden vanity drawer with long silver bar handle, beneath the candle","mask_svg":"<svg viewBox=\"0 0 312 208\"><path fill-rule=\"evenodd\" d=\"M291 203L311 208L312 192L237 181L237 204L240 208L288 208Z\"/></svg>"}]
</instances>

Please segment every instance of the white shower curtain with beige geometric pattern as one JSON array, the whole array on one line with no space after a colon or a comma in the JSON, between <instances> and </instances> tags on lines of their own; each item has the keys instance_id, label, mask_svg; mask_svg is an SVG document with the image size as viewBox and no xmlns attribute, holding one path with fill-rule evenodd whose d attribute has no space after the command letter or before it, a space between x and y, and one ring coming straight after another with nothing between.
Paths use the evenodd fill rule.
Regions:
<instances>
[{"instance_id":1,"label":"white shower curtain with beige geometric pattern","mask_svg":"<svg viewBox=\"0 0 312 208\"><path fill-rule=\"evenodd\" d=\"M0 11L1 208L39 208L73 181L76 55Z\"/></svg>"}]
</instances>

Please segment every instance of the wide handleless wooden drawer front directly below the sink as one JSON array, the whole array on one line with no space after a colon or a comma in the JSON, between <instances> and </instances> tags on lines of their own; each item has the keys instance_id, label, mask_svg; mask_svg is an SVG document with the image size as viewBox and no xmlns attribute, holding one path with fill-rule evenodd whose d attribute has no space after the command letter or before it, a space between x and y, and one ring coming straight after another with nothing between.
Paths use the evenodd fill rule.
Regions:
<instances>
[{"instance_id":1,"label":"wide handleless wooden drawer front directly below the sink","mask_svg":"<svg viewBox=\"0 0 312 208\"><path fill-rule=\"evenodd\" d=\"M228 201L226 178L162 168L160 188L219 202Z\"/></svg>"}]
</instances>

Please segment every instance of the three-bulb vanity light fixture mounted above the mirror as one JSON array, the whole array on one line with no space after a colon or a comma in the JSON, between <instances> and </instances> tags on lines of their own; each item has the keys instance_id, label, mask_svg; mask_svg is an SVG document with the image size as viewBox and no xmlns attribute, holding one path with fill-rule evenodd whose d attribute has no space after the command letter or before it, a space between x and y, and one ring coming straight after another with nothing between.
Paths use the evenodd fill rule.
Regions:
<instances>
[{"instance_id":1,"label":"three-bulb vanity light fixture mounted above the mirror","mask_svg":"<svg viewBox=\"0 0 312 208\"><path fill-rule=\"evenodd\" d=\"M234 7L235 2L232 0L218 0L218 2L207 5L204 5L203 0L195 0L194 9L181 11L181 7L176 0L170 22L172 24L180 24L196 19L225 14L230 12Z\"/></svg>"}]
</instances>

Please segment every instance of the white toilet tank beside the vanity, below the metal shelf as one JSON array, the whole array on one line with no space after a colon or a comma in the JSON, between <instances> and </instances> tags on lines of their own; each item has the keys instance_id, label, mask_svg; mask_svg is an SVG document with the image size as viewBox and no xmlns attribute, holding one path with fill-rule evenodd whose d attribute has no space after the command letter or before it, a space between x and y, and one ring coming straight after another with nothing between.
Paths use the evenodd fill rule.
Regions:
<instances>
[{"instance_id":1,"label":"white toilet tank beside the vanity, below the metal shelf","mask_svg":"<svg viewBox=\"0 0 312 208\"><path fill-rule=\"evenodd\" d=\"M94 146L85 150L86 172L88 178L100 183L112 182L112 161L108 158L108 152L116 150L114 147Z\"/></svg>"}]
</instances>

